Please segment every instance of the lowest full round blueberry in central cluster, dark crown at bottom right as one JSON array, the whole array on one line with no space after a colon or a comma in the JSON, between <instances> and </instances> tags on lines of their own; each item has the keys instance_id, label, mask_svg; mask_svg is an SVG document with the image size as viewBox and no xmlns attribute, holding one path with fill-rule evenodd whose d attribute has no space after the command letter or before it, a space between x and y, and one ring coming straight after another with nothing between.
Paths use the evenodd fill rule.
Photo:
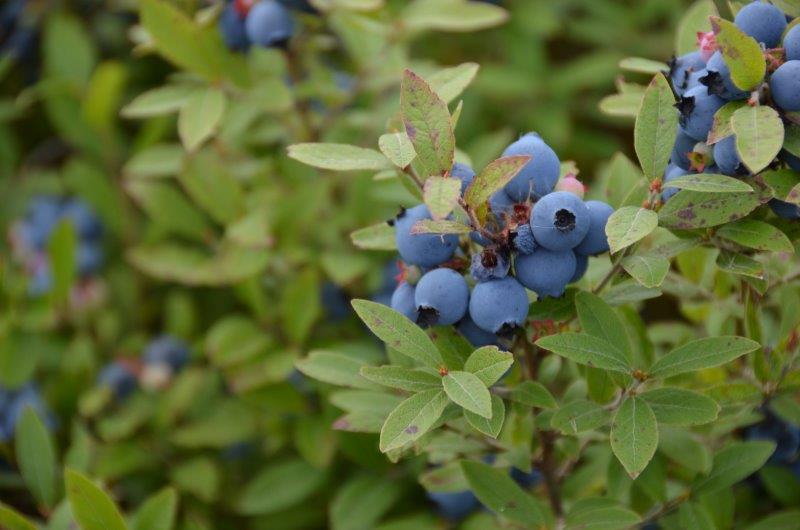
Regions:
<instances>
[{"instance_id":1,"label":"lowest full round blueberry in central cluster, dark crown at bottom right","mask_svg":"<svg viewBox=\"0 0 800 530\"><path fill-rule=\"evenodd\" d=\"M508 335L525 323L528 305L525 288L506 277L479 283L472 289L469 316L484 331Z\"/></svg>"}]
</instances>

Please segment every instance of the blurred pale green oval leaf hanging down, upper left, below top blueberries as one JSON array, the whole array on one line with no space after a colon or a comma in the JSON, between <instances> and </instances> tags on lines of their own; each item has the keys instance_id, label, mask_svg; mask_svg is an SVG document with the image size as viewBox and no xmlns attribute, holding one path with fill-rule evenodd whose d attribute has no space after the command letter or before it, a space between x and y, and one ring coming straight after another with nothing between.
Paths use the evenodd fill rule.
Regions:
<instances>
[{"instance_id":1,"label":"blurred pale green oval leaf hanging down, upper left, below top blueberries","mask_svg":"<svg viewBox=\"0 0 800 530\"><path fill-rule=\"evenodd\" d=\"M178 114L178 136L187 151L194 151L211 138L226 104L225 94L215 88L199 89L187 98Z\"/></svg>"}]
</instances>

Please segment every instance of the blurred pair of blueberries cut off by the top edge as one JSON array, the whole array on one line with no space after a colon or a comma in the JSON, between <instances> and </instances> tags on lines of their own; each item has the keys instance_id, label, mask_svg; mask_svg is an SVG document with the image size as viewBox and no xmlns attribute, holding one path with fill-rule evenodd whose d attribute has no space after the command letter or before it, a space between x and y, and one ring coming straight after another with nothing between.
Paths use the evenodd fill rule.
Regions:
<instances>
[{"instance_id":1,"label":"blurred pair of blueberries cut off by the top edge","mask_svg":"<svg viewBox=\"0 0 800 530\"><path fill-rule=\"evenodd\" d=\"M294 2L291 7L306 10L307 6L303 2ZM245 51L252 44L284 46L294 34L294 21L283 2L233 0L223 8L219 29L228 48Z\"/></svg>"}]
</instances>

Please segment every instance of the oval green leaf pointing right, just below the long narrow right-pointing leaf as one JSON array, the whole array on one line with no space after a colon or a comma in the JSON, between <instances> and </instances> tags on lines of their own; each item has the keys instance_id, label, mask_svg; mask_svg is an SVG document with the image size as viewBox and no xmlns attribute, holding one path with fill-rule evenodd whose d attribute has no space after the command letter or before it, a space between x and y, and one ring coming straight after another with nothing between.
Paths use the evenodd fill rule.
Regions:
<instances>
[{"instance_id":1,"label":"oval green leaf pointing right, just below the long narrow right-pointing leaf","mask_svg":"<svg viewBox=\"0 0 800 530\"><path fill-rule=\"evenodd\" d=\"M639 397L650 405L659 423L668 425L703 425L717 419L720 410L710 397L683 388L656 388Z\"/></svg>"}]
</instances>

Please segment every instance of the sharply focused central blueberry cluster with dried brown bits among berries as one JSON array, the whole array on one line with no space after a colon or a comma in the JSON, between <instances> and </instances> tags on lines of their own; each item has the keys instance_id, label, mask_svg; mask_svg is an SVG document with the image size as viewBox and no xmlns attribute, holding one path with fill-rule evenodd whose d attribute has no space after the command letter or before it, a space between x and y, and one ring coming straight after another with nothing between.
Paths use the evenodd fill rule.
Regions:
<instances>
[{"instance_id":1,"label":"sharply focused central blueberry cluster with dried brown bits among berries","mask_svg":"<svg viewBox=\"0 0 800 530\"><path fill-rule=\"evenodd\" d=\"M498 335L510 336L525 322L526 288L540 299L561 296L583 276L589 256L608 251L605 225L613 208L584 202L574 177L559 183L558 156L539 135L512 143L503 156L512 155L531 160L489 201L490 219L471 234L477 247L462 247L467 242L454 234L412 233L419 221L431 219L424 204L397 217L400 257L421 277L414 282L406 275L392 295L393 309L422 325L457 325L476 346L495 344ZM450 177L461 181L463 194L475 172L457 163ZM467 268L472 289L462 274Z\"/></svg>"}]
</instances>

